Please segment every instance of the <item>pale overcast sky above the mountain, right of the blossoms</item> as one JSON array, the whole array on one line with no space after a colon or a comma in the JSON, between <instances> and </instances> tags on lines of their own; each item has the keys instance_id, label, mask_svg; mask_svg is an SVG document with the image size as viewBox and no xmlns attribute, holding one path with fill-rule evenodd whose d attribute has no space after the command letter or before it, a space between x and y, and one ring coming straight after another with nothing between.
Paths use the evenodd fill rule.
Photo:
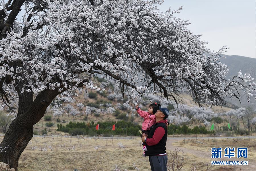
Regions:
<instances>
[{"instance_id":1,"label":"pale overcast sky above the mountain, right of the blossoms","mask_svg":"<svg viewBox=\"0 0 256 171\"><path fill-rule=\"evenodd\" d=\"M230 47L226 55L256 58L256 1L174 1L165 0L159 6L163 12L181 6L181 19L190 20L187 27L194 34L202 34L207 48L219 50Z\"/></svg>"}]
</instances>

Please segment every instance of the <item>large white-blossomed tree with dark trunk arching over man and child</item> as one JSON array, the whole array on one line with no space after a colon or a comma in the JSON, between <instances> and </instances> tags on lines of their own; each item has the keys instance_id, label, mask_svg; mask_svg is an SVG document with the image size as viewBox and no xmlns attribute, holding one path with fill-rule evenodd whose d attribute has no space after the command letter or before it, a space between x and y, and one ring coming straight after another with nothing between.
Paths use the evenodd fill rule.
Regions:
<instances>
[{"instance_id":1,"label":"large white-blossomed tree with dark trunk arching over man and child","mask_svg":"<svg viewBox=\"0 0 256 171\"><path fill-rule=\"evenodd\" d=\"M33 125L65 92L94 87L91 77L116 80L130 98L147 92L181 102L187 90L198 106L225 104L243 89L255 98L255 83L238 73L226 80L222 47L213 53L161 1L9 0L0 11L2 108L15 115L0 144L0 161L17 170L33 137ZM21 11L24 9L25 13ZM23 15L18 21L17 16ZM130 88L129 88L130 87ZM17 105L17 106L16 106ZM15 110L15 108L17 110Z\"/></svg>"}]
</instances>

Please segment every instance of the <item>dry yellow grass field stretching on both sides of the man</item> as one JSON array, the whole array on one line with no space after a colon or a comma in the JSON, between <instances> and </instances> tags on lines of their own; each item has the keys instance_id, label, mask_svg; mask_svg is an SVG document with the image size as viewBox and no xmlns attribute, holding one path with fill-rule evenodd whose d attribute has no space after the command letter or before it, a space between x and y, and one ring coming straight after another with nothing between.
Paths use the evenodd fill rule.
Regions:
<instances>
[{"instance_id":1,"label":"dry yellow grass field stretching on both sides of the man","mask_svg":"<svg viewBox=\"0 0 256 171\"><path fill-rule=\"evenodd\" d=\"M1 141L3 136L0 138ZM141 171L150 170L148 158L142 157L139 137L113 140L101 138L34 136L20 157L18 170L110 171L115 169L115 165L121 170L135 170L135 166ZM197 171L240 170L234 166L211 166L209 161L212 147L248 147L248 161L256 163L255 139L235 139L237 142L233 139L198 140L204 144L192 139L190 143L186 140L184 144L180 139L169 137L166 148L168 154L175 147L184 151L183 171L191 171L191 168L196 168ZM120 148L120 143L125 146L123 149Z\"/></svg>"}]
</instances>

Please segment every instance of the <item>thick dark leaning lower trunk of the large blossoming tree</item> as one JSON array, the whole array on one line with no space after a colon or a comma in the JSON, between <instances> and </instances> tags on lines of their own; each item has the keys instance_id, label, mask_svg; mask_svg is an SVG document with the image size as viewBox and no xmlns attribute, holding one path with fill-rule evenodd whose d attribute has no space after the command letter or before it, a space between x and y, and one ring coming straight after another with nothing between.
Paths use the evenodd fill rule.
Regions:
<instances>
[{"instance_id":1,"label":"thick dark leaning lower trunk of the large blossoming tree","mask_svg":"<svg viewBox=\"0 0 256 171\"><path fill-rule=\"evenodd\" d=\"M39 122L52 100L64 90L59 92L58 90L46 89L40 92L30 104L21 105L24 102L19 102L17 118L11 122L0 144L1 162L5 162L10 168L17 170L21 153L33 137L33 125ZM22 98L21 96L19 96L19 100L23 101L25 97ZM23 96L26 96L27 100L33 99L31 94L25 92Z\"/></svg>"}]
</instances>

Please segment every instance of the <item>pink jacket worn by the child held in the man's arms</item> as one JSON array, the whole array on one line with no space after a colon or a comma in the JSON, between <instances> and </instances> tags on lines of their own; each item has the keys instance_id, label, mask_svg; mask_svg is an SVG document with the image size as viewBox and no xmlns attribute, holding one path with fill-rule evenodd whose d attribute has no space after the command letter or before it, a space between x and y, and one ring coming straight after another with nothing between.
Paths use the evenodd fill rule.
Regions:
<instances>
[{"instance_id":1,"label":"pink jacket worn by the child held in the man's arms","mask_svg":"<svg viewBox=\"0 0 256 171\"><path fill-rule=\"evenodd\" d=\"M155 115L150 114L149 112L143 111L140 108L138 108L137 113L144 118L144 121L142 122L142 129L143 130L149 130L149 128L155 124Z\"/></svg>"}]
</instances>

